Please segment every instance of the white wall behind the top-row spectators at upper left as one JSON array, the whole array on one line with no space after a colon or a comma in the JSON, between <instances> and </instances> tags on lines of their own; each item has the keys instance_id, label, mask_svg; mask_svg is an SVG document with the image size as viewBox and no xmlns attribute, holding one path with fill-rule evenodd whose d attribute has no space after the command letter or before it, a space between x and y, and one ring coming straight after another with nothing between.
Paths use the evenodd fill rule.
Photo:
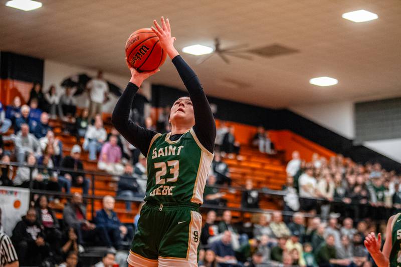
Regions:
<instances>
[{"instance_id":1,"label":"white wall behind the top-row spectators at upper left","mask_svg":"<svg viewBox=\"0 0 401 267\"><path fill-rule=\"evenodd\" d=\"M66 78L82 73L85 73L90 77L95 77L97 74L97 70L68 65L51 60L45 60L43 89L45 92L47 92L51 85L55 85L57 88L57 92L60 95L64 91L63 87L61 87L60 85L61 82ZM125 89L130 78L128 70L126 76L115 75L107 72L105 72L103 76L104 79L119 86L122 90ZM144 83L142 87L144 95L146 95L146 97L150 99L150 84ZM103 112L107 113L111 113L113 111L113 108L117 102L117 97L112 94L110 94L109 96L110 101L105 103L105 105L103 106ZM85 93L77 97L77 104L81 108L89 106L89 101Z\"/></svg>"}]
</instances>

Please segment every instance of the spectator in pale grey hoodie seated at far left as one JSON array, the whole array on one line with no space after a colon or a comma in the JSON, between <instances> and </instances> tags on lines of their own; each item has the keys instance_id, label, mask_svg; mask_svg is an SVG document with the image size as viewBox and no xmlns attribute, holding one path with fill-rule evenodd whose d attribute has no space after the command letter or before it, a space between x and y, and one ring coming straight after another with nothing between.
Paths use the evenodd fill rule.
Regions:
<instances>
[{"instance_id":1,"label":"spectator in pale grey hoodie seated at far left","mask_svg":"<svg viewBox=\"0 0 401 267\"><path fill-rule=\"evenodd\" d=\"M20 163L25 161L28 154L34 153L39 155L40 153L39 141L33 134L29 133L29 126L26 123L21 125L21 132L17 134L14 140L14 146L17 160Z\"/></svg>"}]
</instances>

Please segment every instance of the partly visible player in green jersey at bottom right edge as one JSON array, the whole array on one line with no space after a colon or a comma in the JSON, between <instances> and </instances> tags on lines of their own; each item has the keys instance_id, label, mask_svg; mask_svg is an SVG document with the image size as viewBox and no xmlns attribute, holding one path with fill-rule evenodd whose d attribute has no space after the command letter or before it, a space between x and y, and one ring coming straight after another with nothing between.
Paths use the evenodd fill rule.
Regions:
<instances>
[{"instance_id":1,"label":"partly visible player in green jersey at bottom right edge","mask_svg":"<svg viewBox=\"0 0 401 267\"><path fill-rule=\"evenodd\" d=\"M382 251L381 234L376 236L374 232L369 233L364 244L378 267L400 267L401 266L401 213L392 215L387 221L385 230L385 241Z\"/></svg>"}]
</instances>

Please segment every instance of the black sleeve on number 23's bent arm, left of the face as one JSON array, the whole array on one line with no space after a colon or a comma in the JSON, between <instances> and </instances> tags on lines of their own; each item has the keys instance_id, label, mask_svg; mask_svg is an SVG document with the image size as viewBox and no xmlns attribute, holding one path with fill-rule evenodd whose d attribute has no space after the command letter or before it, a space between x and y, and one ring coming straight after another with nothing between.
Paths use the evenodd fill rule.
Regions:
<instances>
[{"instance_id":1,"label":"black sleeve on number 23's bent arm, left of the face","mask_svg":"<svg viewBox=\"0 0 401 267\"><path fill-rule=\"evenodd\" d=\"M138 87L136 85L128 83L124 93L122 93L120 99L117 101L111 121L122 136L138 148L146 157L150 142L156 132L140 127L129 119L132 101L137 91Z\"/></svg>"}]
</instances>

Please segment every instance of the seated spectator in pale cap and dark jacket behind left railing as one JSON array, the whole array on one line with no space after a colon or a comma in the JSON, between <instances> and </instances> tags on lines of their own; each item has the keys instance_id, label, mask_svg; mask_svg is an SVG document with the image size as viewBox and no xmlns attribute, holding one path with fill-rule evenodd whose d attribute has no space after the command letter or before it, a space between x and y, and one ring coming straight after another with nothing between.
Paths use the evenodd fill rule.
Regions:
<instances>
[{"instance_id":1,"label":"seated spectator in pale cap and dark jacket behind left railing","mask_svg":"<svg viewBox=\"0 0 401 267\"><path fill-rule=\"evenodd\" d=\"M88 194L90 180L85 177L84 165L81 161L81 147L74 145L71 149L70 155L63 158L61 168L71 169L71 171L62 170L60 172L59 180L67 184L66 192L70 192L71 184L74 186L82 187L84 195ZM74 171L72 171L74 170Z\"/></svg>"}]
</instances>

